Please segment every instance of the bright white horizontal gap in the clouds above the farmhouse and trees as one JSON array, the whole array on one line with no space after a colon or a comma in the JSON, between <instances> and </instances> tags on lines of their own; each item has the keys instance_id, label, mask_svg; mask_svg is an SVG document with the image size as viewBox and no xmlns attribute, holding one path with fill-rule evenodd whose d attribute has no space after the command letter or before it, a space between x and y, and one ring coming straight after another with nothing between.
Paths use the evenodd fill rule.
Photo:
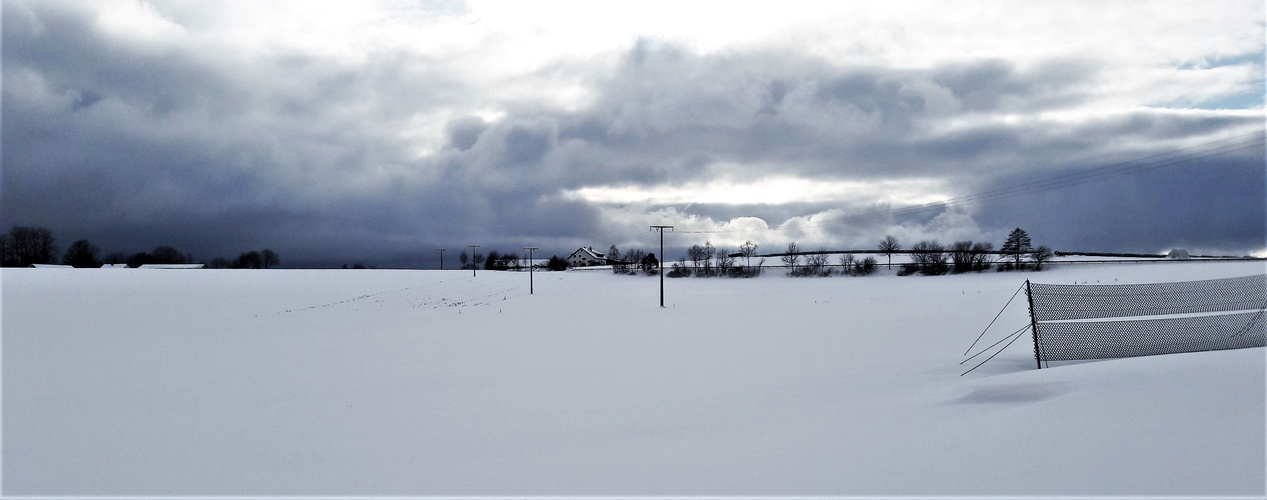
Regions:
<instances>
[{"instance_id":1,"label":"bright white horizontal gap in the clouds above the farmhouse and trees","mask_svg":"<svg viewBox=\"0 0 1267 500\"><path fill-rule=\"evenodd\" d=\"M789 203L843 203L850 205L922 205L952 197L943 182L931 178L884 181L831 181L768 177L756 181L718 180L679 186L592 186L564 194L602 204L729 204L782 205Z\"/></svg>"}]
</instances>

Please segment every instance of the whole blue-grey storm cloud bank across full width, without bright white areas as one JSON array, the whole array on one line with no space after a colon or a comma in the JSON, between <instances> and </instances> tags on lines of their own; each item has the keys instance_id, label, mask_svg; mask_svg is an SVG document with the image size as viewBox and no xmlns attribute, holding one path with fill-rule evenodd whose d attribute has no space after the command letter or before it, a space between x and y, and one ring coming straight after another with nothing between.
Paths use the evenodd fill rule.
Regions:
<instances>
[{"instance_id":1,"label":"whole blue-grey storm cloud bank across full width, without bright white areas","mask_svg":"<svg viewBox=\"0 0 1267 500\"><path fill-rule=\"evenodd\" d=\"M1144 157L1162 141L1249 120L1143 110L988 119L1092 99L1102 67L1076 59L912 70L789 49L698 54L650 41L613 66L564 65L585 76L584 105L507 99L493 103L503 115L485 119L475 110L490 105L488 84L399 49L348 62L189 39L143 44L103 33L86 10L25 3L5 4L4 37L6 225L44 225L63 243L87 238L108 251L174 244L204 259L271 247L291 266L423 266L437 247L569 252L646 238L642 222L608 220L599 204L565 196L582 187L931 177L963 195L1096 158ZM436 151L419 153L419 123ZM1130 189L1082 186L976 214L990 230L1026 225L1079 249L1261 248L1262 153L1224 159L1144 175ZM1190 199L1202 201L1175 201ZM761 216L774 227L829 209L875 210L745 203L630 214ZM1083 222L1096 206L1117 215Z\"/></svg>"}]
</instances>

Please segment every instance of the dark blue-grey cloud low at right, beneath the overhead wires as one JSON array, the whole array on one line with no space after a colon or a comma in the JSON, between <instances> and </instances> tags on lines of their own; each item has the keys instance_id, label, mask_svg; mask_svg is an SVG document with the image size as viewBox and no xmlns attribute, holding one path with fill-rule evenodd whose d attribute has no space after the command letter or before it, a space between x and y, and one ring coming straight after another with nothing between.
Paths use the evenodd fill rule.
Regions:
<instances>
[{"instance_id":1,"label":"dark blue-grey cloud low at right, beneath the overhead wires","mask_svg":"<svg viewBox=\"0 0 1267 500\"><path fill-rule=\"evenodd\" d=\"M1206 157L1200 157L1200 151L1178 156L1182 161L1164 157L1164 162L1133 162L1129 165L1147 168L988 203L982 205L979 220L1036 228L1039 234L1035 237L1041 235L1050 246L1068 251L1190 248L1242 256L1261 249L1267 242L1267 172L1262 143ZM1114 165L1102 159L1074 163L1068 171L1077 175ZM998 187L1019 181L1010 177L991 184Z\"/></svg>"}]
</instances>

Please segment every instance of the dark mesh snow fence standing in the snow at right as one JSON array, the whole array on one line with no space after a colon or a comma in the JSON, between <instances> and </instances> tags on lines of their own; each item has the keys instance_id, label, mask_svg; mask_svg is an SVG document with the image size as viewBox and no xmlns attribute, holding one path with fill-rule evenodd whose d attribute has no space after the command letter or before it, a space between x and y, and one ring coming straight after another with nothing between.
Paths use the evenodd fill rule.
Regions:
<instances>
[{"instance_id":1,"label":"dark mesh snow fence standing in the snow at right","mask_svg":"<svg viewBox=\"0 0 1267 500\"><path fill-rule=\"evenodd\" d=\"M1030 284L1030 297L1040 362L1267 344L1267 275L1139 285Z\"/></svg>"}]
</instances>

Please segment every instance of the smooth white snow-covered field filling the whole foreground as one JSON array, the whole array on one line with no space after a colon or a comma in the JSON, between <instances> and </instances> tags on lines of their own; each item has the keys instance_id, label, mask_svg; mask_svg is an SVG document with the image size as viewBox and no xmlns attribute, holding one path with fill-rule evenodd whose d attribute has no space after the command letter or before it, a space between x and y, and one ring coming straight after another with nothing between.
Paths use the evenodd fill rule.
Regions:
<instances>
[{"instance_id":1,"label":"smooth white snow-covered field filling the whole foreground","mask_svg":"<svg viewBox=\"0 0 1267 500\"><path fill-rule=\"evenodd\" d=\"M1262 496L1262 348L959 361L1025 278L1263 272L4 270L3 494Z\"/></svg>"}]
</instances>

